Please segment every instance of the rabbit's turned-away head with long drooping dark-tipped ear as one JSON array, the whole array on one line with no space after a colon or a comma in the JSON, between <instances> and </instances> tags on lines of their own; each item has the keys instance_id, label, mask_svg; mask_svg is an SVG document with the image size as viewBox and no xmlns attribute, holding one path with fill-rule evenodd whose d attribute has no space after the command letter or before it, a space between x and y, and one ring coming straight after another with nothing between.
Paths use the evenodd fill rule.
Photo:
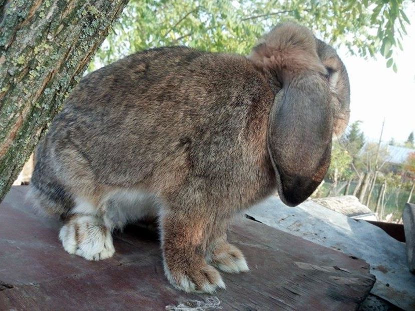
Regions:
<instances>
[{"instance_id":1,"label":"rabbit's turned-away head with long drooping dark-tipped ear","mask_svg":"<svg viewBox=\"0 0 415 311\"><path fill-rule=\"evenodd\" d=\"M280 197L295 206L324 178L332 137L347 125L347 71L331 46L295 23L271 30L249 58L278 86L269 116L268 152Z\"/></svg>"}]
</instances>

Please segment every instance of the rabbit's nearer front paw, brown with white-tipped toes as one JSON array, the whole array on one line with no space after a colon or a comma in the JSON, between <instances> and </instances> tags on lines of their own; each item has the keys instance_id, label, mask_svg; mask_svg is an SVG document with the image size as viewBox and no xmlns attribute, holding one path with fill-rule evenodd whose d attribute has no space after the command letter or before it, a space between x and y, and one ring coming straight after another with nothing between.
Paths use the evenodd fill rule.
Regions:
<instances>
[{"instance_id":1,"label":"rabbit's nearer front paw, brown with white-tipped toes","mask_svg":"<svg viewBox=\"0 0 415 311\"><path fill-rule=\"evenodd\" d=\"M186 292L214 293L218 288L225 288L219 272L211 265L204 264L199 268L182 267L183 263L175 263L169 268L165 263L165 273L170 283L177 289Z\"/></svg>"}]
</instances>

